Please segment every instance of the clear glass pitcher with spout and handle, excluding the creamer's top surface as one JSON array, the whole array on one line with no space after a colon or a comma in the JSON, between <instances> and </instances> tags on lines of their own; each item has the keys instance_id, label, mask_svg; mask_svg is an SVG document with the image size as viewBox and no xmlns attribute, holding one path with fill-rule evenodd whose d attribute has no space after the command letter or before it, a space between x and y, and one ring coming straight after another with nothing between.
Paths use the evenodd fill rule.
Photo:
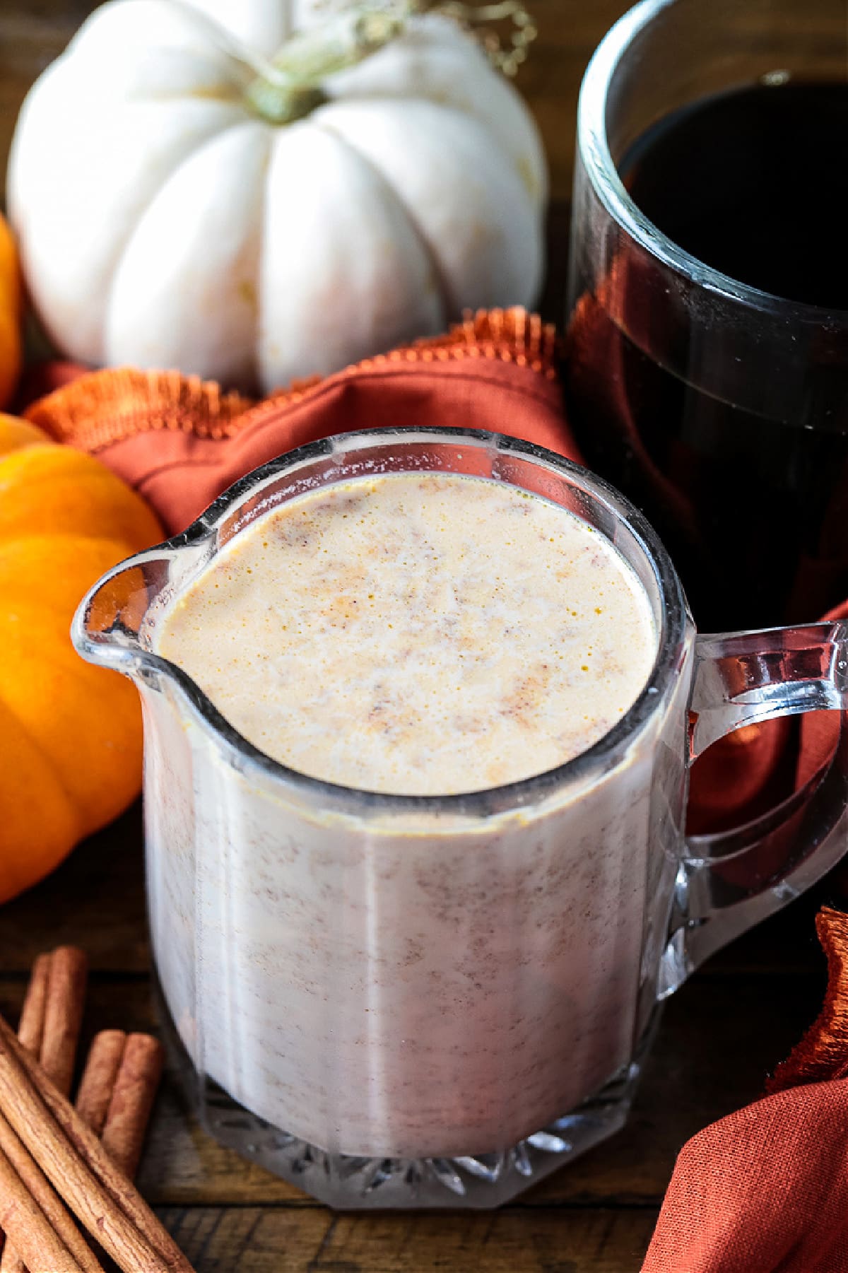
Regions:
<instances>
[{"instance_id":1,"label":"clear glass pitcher with spout and handle, excluding the creamer's top surface","mask_svg":"<svg viewBox=\"0 0 848 1273\"><path fill-rule=\"evenodd\" d=\"M169 603L255 518L421 470L563 505L646 588L649 682L559 769L447 797L320 782L252 747L153 652ZM842 738L779 816L684 838L694 755L844 705L843 625L695 636L640 514L513 438L374 430L283 456L104 575L73 638L141 694L153 951L204 1125L336 1207L491 1207L610 1136L657 1004L845 848Z\"/></svg>"}]
</instances>

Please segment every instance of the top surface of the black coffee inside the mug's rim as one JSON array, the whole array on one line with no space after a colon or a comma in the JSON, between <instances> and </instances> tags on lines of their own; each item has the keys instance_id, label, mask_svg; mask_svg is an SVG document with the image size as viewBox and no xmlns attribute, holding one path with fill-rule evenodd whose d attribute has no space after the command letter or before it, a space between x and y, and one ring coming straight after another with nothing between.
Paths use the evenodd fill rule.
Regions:
<instances>
[{"instance_id":1,"label":"top surface of the black coffee inside the mug's rim","mask_svg":"<svg viewBox=\"0 0 848 1273\"><path fill-rule=\"evenodd\" d=\"M848 309L848 83L753 84L666 116L624 154L634 202L761 292Z\"/></svg>"}]
</instances>

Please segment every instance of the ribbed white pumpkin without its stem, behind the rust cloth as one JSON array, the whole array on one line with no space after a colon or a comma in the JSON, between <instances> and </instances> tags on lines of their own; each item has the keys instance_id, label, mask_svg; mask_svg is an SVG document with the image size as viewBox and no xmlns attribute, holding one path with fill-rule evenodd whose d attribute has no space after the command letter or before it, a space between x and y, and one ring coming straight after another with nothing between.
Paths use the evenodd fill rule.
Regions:
<instances>
[{"instance_id":1,"label":"ribbed white pumpkin without its stem, behind the rust cloth","mask_svg":"<svg viewBox=\"0 0 848 1273\"><path fill-rule=\"evenodd\" d=\"M33 85L8 204L64 353L267 391L534 303L544 157L477 45L414 18L278 125L251 102L288 29L281 0L108 0Z\"/></svg>"}]
</instances>

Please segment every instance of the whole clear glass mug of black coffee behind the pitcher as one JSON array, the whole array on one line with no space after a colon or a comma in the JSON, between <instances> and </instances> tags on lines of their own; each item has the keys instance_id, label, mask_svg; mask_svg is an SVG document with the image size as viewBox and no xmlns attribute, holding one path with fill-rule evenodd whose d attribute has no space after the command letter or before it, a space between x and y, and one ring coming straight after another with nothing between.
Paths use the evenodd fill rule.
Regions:
<instances>
[{"instance_id":1,"label":"whole clear glass mug of black coffee behind the pitcher","mask_svg":"<svg viewBox=\"0 0 848 1273\"><path fill-rule=\"evenodd\" d=\"M703 628L848 597L845 130L844 0L643 0L583 80L569 419Z\"/></svg>"}]
</instances>

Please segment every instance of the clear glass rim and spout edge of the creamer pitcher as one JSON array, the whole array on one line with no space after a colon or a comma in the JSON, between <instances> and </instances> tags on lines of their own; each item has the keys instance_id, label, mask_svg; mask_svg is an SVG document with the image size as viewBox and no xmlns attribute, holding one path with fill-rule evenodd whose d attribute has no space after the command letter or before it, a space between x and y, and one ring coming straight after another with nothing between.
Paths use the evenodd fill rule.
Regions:
<instances>
[{"instance_id":1,"label":"clear glass rim and spout edge of the creamer pitcher","mask_svg":"<svg viewBox=\"0 0 848 1273\"><path fill-rule=\"evenodd\" d=\"M215 708L197 682L187 672L177 667L169 659L145 649L139 644L132 647L117 644L111 640L111 629L93 634L87 626L88 614L97 593L118 575L143 566L145 563L160 563L180 555L188 547L196 547L201 542L214 540L218 528L228 522L242 504L261 493L264 486L271 485L281 475L308 465L321 457L334 454L348 454L364 447L373 447L374 442L385 440L387 444L402 442L435 440L455 443L462 440L462 446L476 446L479 448L490 447L494 452L504 454L519 454L532 460L541 467L554 470L560 476L564 475L572 485L588 494L597 503L601 503L612 514L615 521L624 522L642 551L647 564L653 572L658 591L661 629L657 634L657 653L639 696L624 713L611 729L609 729L596 743L579 755L567 760L562 765L522 778L517 782L502 783L497 787L483 788L471 792L457 792L453 794L395 794L387 792L374 792L365 788L346 787L341 783L326 782L314 778L298 769L292 769L281 761L274 760L232 726ZM392 470L404 472L407 470ZM413 470L409 470L413 471ZM421 470L415 470L420 472ZM444 472L446 470L434 470ZM447 470L451 471L451 470ZM340 476L339 481L355 480L355 475ZM477 480L493 480L481 477ZM497 477L494 480L498 480ZM334 482L327 482L327 486ZM518 489L525 489L519 484ZM532 494L532 493L531 493ZM545 498L545 496L541 496ZM264 514L260 514L264 516ZM250 524L250 523L248 523ZM238 530L232 538L238 537ZM228 538L227 542L232 542ZM214 560L214 558L210 558ZM657 708L663 703L670 682L676 677L676 652L682 644L686 629L691 625L682 586L674 568L671 558L663 547L657 533L653 531L643 514L626 500L614 486L597 477L588 468L565 460L553 451L539 447L531 442L523 442L508 434L489 433L483 429L453 429L441 426L421 428L392 428L392 429L363 429L345 434L336 434L317 442L307 443L295 451L286 452L275 460L255 468L228 488L222 495L206 508L187 530L172 536L169 540L143 552L136 552L131 558L120 561L111 570L106 572L97 583L87 592L80 601L71 625L71 638L78 653L84 654L92 662L108 666L116 671L129 675L132 680L139 680L138 671L158 673L173 682L181 691L185 700L192 709L205 732L219 743L225 745L228 751L237 755L239 769L248 775L250 769L258 770L265 778L283 782L307 797L330 803L335 810L353 812L357 816L365 813L456 813L467 817L486 817L499 812L507 812L539 803L565 783L583 780L595 771L604 773L610 768L610 756L619 752L642 731ZM355 805L355 808L345 810L345 806Z\"/></svg>"}]
</instances>

